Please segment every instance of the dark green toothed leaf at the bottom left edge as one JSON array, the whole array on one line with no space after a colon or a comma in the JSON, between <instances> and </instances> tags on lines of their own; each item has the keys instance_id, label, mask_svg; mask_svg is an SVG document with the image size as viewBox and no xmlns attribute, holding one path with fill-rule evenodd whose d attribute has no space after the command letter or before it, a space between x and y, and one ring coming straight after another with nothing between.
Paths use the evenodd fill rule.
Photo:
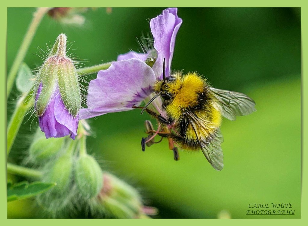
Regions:
<instances>
[{"instance_id":1,"label":"dark green toothed leaf at the bottom left edge","mask_svg":"<svg viewBox=\"0 0 308 226\"><path fill-rule=\"evenodd\" d=\"M40 193L48 191L54 187L56 183L43 183L40 181L29 184L28 181L22 181L12 185L8 182L7 185L7 201L27 199L36 196Z\"/></svg>"}]
</instances>

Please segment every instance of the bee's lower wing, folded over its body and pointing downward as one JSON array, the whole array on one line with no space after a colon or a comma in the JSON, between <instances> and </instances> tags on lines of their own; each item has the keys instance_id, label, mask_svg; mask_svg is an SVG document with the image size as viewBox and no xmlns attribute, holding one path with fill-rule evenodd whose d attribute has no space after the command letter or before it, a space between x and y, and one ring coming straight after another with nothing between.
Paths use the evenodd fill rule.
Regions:
<instances>
[{"instance_id":1,"label":"bee's lower wing, folded over its body and pointing downward","mask_svg":"<svg viewBox=\"0 0 308 226\"><path fill-rule=\"evenodd\" d=\"M194 114L188 113L189 121L196 133L198 142L205 158L216 170L224 168L224 155L221 149L221 143L224 141L219 128L209 132L209 122L205 119L198 118Z\"/></svg>"}]
</instances>

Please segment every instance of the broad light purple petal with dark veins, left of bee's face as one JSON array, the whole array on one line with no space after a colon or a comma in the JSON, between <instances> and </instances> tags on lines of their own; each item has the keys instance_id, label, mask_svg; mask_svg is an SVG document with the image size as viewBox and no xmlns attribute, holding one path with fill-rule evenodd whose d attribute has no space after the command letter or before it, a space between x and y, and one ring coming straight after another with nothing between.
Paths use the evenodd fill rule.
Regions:
<instances>
[{"instance_id":1,"label":"broad light purple petal with dark veins, left of bee's face","mask_svg":"<svg viewBox=\"0 0 308 226\"><path fill-rule=\"evenodd\" d=\"M133 105L140 105L150 95L155 81L152 68L139 59L112 63L90 81L88 109L81 112L81 119L132 110Z\"/></svg>"}]
</instances>

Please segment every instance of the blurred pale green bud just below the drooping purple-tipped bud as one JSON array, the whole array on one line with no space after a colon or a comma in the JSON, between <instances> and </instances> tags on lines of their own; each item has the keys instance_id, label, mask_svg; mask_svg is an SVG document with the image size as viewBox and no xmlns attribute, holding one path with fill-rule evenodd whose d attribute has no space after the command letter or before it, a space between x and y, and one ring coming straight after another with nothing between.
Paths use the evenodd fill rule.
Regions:
<instances>
[{"instance_id":1,"label":"blurred pale green bud just below the drooping purple-tipped bud","mask_svg":"<svg viewBox=\"0 0 308 226\"><path fill-rule=\"evenodd\" d=\"M36 164L46 163L54 158L64 144L65 138L46 139L44 133L37 130L29 148L30 160Z\"/></svg>"}]
</instances>

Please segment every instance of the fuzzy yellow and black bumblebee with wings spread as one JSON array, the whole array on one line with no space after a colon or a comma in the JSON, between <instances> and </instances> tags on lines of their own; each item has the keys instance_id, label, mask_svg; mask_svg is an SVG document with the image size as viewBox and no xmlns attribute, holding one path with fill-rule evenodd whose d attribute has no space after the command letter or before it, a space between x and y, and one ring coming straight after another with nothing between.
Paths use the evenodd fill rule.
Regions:
<instances>
[{"instance_id":1,"label":"fuzzy yellow and black bumblebee with wings spread","mask_svg":"<svg viewBox=\"0 0 308 226\"><path fill-rule=\"evenodd\" d=\"M223 136L219 129L222 117L235 120L236 116L256 111L255 102L245 94L213 88L196 72L183 74L178 71L166 78L163 69L163 80L156 81L153 91L156 95L143 107L141 114L146 110L155 117L159 129L148 133L168 137L176 160L178 153L172 142L188 151L201 149L216 170L224 166ZM147 109L158 96L163 99L161 110L166 117ZM144 142L143 138L143 146Z\"/></svg>"}]
</instances>

